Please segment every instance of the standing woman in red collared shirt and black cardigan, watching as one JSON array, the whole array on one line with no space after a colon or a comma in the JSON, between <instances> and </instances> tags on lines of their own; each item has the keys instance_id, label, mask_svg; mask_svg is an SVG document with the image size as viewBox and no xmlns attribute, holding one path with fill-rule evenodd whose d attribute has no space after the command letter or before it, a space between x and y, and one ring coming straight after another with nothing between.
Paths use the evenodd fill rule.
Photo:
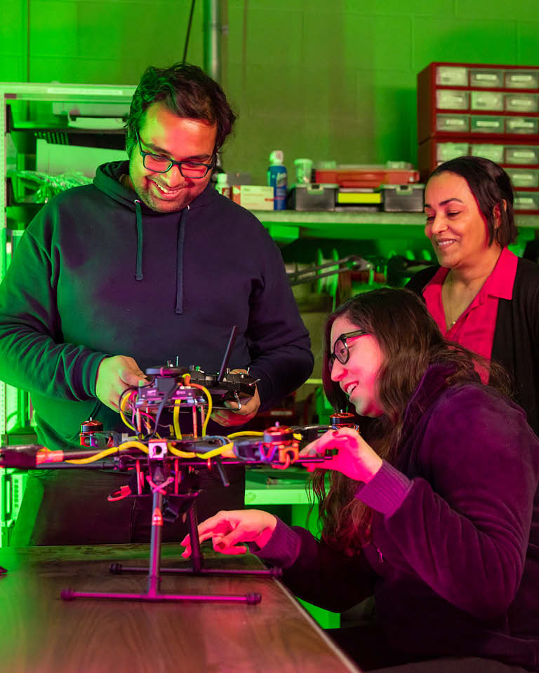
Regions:
<instances>
[{"instance_id":1,"label":"standing woman in red collared shirt and black cardigan, watching","mask_svg":"<svg viewBox=\"0 0 539 673\"><path fill-rule=\"evenodd\" d=\"M509 176L480 157L446 161L427 182L425 212L439 266L408 287L446 339L504 365L539 433L539 267L507 248L518 233Z\"/></svg>"}]
</instances>

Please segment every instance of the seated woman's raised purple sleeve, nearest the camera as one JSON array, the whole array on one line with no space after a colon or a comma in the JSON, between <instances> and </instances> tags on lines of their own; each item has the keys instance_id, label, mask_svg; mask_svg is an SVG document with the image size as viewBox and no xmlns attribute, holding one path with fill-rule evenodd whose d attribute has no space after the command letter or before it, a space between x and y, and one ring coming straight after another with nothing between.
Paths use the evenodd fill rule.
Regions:
<instances>
[{"instance_id":1,"label":"seated woman's raised purple sleeve, nearest the camera","mask_svg":"<svg viewBox=\"0 0 539 673\"><path fill-rule=\"evenodd\" d=\"M477 386L438 405L409 480L387 463L356 496L383 515L387 560L477 618L501 615L521 580L538 441L521 409Z\"/></svg>"}]
</instances>

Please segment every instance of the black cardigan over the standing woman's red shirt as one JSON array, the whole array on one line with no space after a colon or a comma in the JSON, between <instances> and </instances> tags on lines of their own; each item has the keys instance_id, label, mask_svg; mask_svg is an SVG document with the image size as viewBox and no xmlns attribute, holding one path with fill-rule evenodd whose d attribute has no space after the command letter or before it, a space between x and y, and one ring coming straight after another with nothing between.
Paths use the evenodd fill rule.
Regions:
<instances>
[{"instance_id":1,"label":"black cardigan over the standing woman's red shirt","mask_svg":"<svg viewBox=\"0 0 539 673\"><path fill-rule=\"evenodd\" d=\"M438 269L419 271L406 287L422 297ZM539 435L539 266L528 259L518 261L512 299L499 301L491 359L512 375L514 398Z\"/></svg>"}]
</instances>

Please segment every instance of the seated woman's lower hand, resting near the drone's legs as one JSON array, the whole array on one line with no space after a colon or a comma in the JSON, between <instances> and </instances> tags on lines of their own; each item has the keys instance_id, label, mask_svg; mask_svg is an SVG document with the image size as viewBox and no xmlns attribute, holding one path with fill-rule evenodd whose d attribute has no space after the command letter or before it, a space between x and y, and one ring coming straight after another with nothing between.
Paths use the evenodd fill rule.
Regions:
<instances>
[{"instance_id":1,"label":"seated woman's lower hand, resting near the drone's legs","mask_svg":"<svg viewBox=\"0 0 539 673\"><path fill-rule=\"evenodd\" d=\"M245 554L245 547L237 547L242 542L255 542L263 547L277 526L277 517L262 510L232 510L218 512L199 524L199 541L212 538L213 549L221 554ZM180 542L185 547L182 557L191 556L189 536Z\"/></svg>"}]
</instances>

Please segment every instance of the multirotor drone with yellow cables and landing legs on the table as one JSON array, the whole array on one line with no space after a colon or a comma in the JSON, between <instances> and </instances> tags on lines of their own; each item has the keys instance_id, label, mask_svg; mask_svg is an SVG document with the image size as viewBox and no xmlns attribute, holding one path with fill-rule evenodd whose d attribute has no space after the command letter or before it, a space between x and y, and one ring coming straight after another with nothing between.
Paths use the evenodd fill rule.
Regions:
<instances>
[{"instance_id":1,"label":"multirotor drone with yellow cables and landing legs on the table","mask_svg":"<svg viewBox=\"0 0 539 673\"><path fill-rule=\"evenodd\" d=\"M192 573L194 575L262 574L279 576L277 569L260 571L231 571L205 569L197 534L196 501L200 493L198 470L214 470L222 484L229 485L227 465L265 465L286 470L291 465L307 465L331 458L301 456L300 449L330 428L352 427L354 415L333 414L328 425L286 427L276 424L263 432L240 431L227 436L206 435L212 409L229 400L241 406L241 400L251 397L256 381L249 374L227 369L229 353L234 344L232 330L227 352L218 374L206 374L200 367L172 366L146 370L147 382L124 390L119 399L120 416L128 432L105 431L97 419L81 423L80 445L72 451L50 451L39 444L22 444L0 448L0 467L21 470L51 470L80 468L87 470L114 469L131 471L133 478L126 487L108 496L109 501L123 498L152 498L152 528L149 568L125 568L112 564L113 573L147 572L145 594L88 593L63 590L62 599L76 598L122 599L138 601L219 600L256 604L260 594L245 596L197 596L163 594L159 591L162 573ZM164 411L172 414L172 423L161 423ZM180 413L190 414L192 432L182 433ZM180 513L187 519L192 548L191 569L161 568L162 527L164 512ZM164 521L165 519L165 521Z\"/></svg>"}]
</instances>

